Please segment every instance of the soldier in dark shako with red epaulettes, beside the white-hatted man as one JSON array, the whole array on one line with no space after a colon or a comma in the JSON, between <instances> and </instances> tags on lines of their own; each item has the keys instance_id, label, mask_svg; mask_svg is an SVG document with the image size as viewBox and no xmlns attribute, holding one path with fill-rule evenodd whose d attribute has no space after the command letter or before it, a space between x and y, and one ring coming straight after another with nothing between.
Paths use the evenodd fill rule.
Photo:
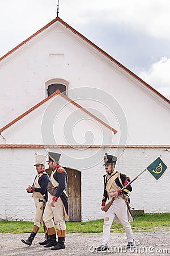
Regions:
<instances>
[{"instance_id":1,"label":"soldier in dark shako with red epaulettes, beside the white-hatted man","mask_svg":"<svg viewBox=\"0 0 170 256\"><path fill-rule=\"evenodd\" d=\"M69 203L67 199L67 173L59 165L61 154L49 152L48 165L52 169L50 182L48 184L48 202L43 214L45 226L48 229L49 243L45 248L52 247L52 250L65 249L66 223L69 221L68 211ZM56 240L56 228L57 236Z\"/></svg>"}]
</instances>

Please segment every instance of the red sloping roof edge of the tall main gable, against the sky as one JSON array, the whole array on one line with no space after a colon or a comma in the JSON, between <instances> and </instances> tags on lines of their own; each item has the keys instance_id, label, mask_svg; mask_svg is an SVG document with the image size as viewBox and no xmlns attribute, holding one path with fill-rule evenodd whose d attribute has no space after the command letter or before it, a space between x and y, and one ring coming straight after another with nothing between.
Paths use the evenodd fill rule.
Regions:
<instances>
[{"instance_id":1,"label":"red sloping roof edge of the tall main gable, against the sky","mask_svg":"<svg viewBox=\"0 0 170 256\"><path fill-rule=\"evenodd\" d=\"M151 85L147 84L145 81L143 81L140 77L138 77L137 75L135 75L133 72L131 72L128 68L126 68L124 65L122 65L121 63L119 63L117 60L115 60L112 56L110 56L107 52L103 51L103 49L101 49L100 47L96 46L96 44L92 43L90 40L88 40L85 36L83 36L82 34L80 34L78 31L76 31L73 27L69 26L69 24L67 24L66 22L64 22L62 19L60 19L59 17L53 19L51 22L49 22L48 24L46 24L46 26L42 27L40 30L38 30L35 34L29 36L29 38L27 38L26 40L24 40L22 43L20 43L18 46L16 46L15 48L11 49L11 51L7 52L5 55L3 55L0 58L0 61L5 59L5 57L9 56L12 52L16 51L16 49L19 49L20 47L22 47L25 43L27 43L29 40L33 39L35 36L39 35L41 32L43 32L46 28L50 27L53 23L55 22L60 22L61 24L63 24L63 26L65 26L66 28L68 28L69 30L73 31L74 34L78 35L80 38L82 38L85 42L87 42L88 44L90 44L92 47L96 48L97 51L101 52L105 57L107 57L108 59L110 59L111 61L113 61L115 64L118 65L118 67L122 68L125 72L128 72L130 76L133 76L134 79L137 79L139 82L142 82L142 84L144 86L146 86L148 89L152 90L152 92L156 93L160 98L162 98L164 101L168 102L170 104L170 100L168 100L166 97L164 97L162 94L160 94L157 90L155 90L154 88L152 88Z\"/></svg>"}]
</instances>

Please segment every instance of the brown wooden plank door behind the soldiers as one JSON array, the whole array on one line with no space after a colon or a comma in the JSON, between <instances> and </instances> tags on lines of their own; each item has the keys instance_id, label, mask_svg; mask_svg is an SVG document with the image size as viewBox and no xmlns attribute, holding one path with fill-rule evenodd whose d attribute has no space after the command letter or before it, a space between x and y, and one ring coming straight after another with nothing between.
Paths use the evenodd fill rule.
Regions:
<instances>
[{"instance_id":1,"label":"brown wooden plank door behind the soldiers","mask_svg":"<svg viewBox=\"0 0 170 256\"><path fill-rule=\"evenodd\" d=\"M68 175L69 221L82 221L81 172L71 168L63 168Z\"/></svg>"}]
</instances>

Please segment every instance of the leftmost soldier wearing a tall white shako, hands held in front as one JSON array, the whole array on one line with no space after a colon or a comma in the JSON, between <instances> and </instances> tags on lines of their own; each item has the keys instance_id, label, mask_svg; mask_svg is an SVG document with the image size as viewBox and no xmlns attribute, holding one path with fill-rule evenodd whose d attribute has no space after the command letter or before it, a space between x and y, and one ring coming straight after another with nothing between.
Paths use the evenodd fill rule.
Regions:
<instances>
[{"instance_id":1,"label":"leftmost soldier wearing a tall white shako, hands held in front","mask_svg":"<svg viewBox=\"0 0 170 256\"><path fill-rule=\"evenodd\" d=\"M47 201L47 191L46 188L49 183L49 176L45 172L45 162L46 162L46 156L45 155L39 155L37 152L36 155L36 170L37 175L35 177L35 180L33 182L33 185L28 185L26 188L26 191L28 193L32 193L32 197L35 201L35 207L36 207L36 214L35 214L35 220L34 220L34 226L32 229L32 232L28 239L21 240L26 245L32 245L32 241L34 240L36 234L39 232L40 229L40 222L42 222L42 214L44 212L45 203ZM45 244L45 243L44 243Z\"/></svg>"}]
</instances>

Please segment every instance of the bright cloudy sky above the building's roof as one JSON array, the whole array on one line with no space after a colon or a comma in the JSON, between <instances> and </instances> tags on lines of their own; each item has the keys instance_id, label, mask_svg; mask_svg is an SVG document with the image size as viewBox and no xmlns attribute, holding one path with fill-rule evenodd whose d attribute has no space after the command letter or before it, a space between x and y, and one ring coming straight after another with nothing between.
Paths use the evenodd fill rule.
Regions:
<instances>
[{"instance_id":1,"label":"bright cloudy sky above the building's roof","mask_svg":"<svg viewBox=\"0 0 170 256\"><path fill-rule=\"evenodd\" d=\"M0 56L57 16L57 0L1 1ZM170 0L59 0L59 17L170 99Z\"/></svg>"}]
</instances>

